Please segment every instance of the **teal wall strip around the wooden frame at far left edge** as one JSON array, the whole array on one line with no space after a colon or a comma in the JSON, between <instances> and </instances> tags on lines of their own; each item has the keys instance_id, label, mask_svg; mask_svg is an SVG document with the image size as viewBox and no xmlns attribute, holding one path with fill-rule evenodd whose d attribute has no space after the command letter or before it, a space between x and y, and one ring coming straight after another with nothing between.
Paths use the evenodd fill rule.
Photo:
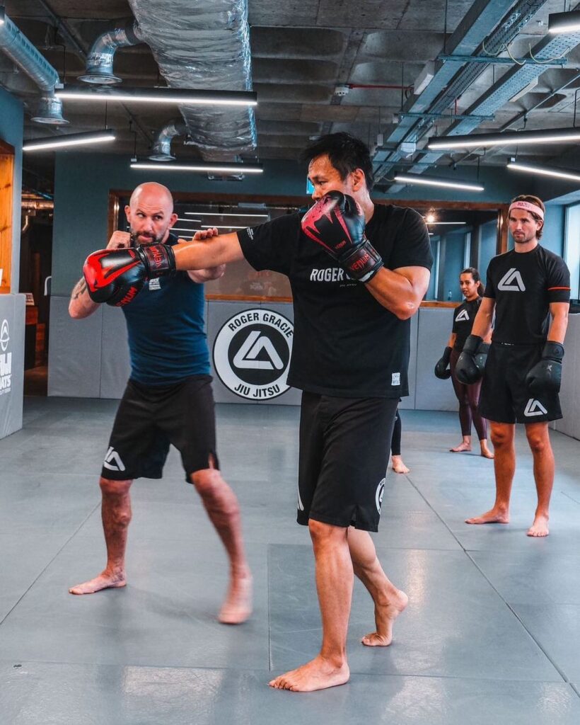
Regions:
<instances>
[{"instance_id":1,"label":"teal wall strip around the wooden frame at far left edge","mask_svg":"<svg viewBox=\"0 0 580 725\"><path fill-rule=\"evenodd\" d=\"M12 196L12 289L18 291L20 277L20 199L22 192L22 103L0 88L0 138L14 146L14 195Z\"/></svg>"}]
</instances>

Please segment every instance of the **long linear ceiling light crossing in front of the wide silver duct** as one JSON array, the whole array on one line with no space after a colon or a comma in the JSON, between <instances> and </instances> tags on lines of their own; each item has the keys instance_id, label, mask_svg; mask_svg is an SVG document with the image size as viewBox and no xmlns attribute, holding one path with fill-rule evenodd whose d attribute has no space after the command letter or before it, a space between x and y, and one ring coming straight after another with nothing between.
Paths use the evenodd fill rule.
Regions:
<instances>
[{"instance_id":1,"label":"long linear ceiling light crossing in front of the wide silver duct","mask_svg":"<svg viewBox=\"0 0 580 725\"><path fill-rule=\"evenodd\" d=\"M254 91L196 91L192 88L112 88L65 86L56 98L71 101L121 101L122 103L172 103L205 106L257 106Z\"/></svg>"}]
</instances>

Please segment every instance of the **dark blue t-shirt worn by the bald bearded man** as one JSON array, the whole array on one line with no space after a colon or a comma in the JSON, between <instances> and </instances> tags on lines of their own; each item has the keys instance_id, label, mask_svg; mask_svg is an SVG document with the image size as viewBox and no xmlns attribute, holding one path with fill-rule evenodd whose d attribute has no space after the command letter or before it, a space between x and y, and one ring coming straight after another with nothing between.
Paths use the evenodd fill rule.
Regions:
<instances>
[{"instance_id":1,"label":"dark blue t-shirt worn by the bald bearded man","mask_svg":"<svg viewBox=\"0 0 580 725\"><path fill-rule=\"evenodd\" d=\"M166 244L177 244L172 234ZM127 320L131 379L171 385L192 375L209 375L203 284L187 272L147 282L121 309Z\"/></svg>"}]
</instances>

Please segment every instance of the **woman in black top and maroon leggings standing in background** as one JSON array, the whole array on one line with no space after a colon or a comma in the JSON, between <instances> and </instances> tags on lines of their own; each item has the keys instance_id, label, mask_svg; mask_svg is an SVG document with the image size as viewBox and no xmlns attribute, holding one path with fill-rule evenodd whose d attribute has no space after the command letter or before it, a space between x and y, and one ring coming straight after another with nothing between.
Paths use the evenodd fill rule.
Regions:
<instances>
[{"instance_id":1,"label":"woman in black top and maroon leggings standing in background","mask_svg":"<svg viewBox=\"0 0 580 725\"><path fill-rule=\"evenodd\" d=\"M435 375L438 378L451 378L453 390L459 401L459 422L461 423L463 440L458 446L451 448L451 452L471 451L471 421L473 421L482 456L484 458L493 458L493 453L487 446L487 421L477 411L482 381L479 380L472 385L465 385L455 377L455 365L463 349L463 344L468 335L471 334L475 315L482 302L483 285L479 272L474 267L463 270L459 276L459 286L465 301L455 307L453 311L453 328L443 357L435 366ZM489 340L486 340L486 342L489 342ZM450 370L446 369L447 363L450 364Z\"/></svg>"}]
</instances>

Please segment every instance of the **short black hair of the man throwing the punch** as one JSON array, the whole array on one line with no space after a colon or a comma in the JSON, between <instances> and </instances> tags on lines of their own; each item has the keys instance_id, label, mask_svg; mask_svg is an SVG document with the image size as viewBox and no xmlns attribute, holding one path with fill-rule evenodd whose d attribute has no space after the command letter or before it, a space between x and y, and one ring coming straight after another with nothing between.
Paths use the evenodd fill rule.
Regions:
<instances>
[{"instance_id":1,"label":"short black hair of the man throwing the punch","mask_svg":"<svg viewBox=\"0 0 580 725\"><path fill-rule=\"evenodd\" d=\"M369 146L360 138L350 136L350 133L327 133L319 136L301 154L303 162L310 164L319 156L327 156L335 167L342 181L356 169L362 169L366 180L366 188L371 191L374 186L373 165Z\"/></svg>"}]
</instances>

